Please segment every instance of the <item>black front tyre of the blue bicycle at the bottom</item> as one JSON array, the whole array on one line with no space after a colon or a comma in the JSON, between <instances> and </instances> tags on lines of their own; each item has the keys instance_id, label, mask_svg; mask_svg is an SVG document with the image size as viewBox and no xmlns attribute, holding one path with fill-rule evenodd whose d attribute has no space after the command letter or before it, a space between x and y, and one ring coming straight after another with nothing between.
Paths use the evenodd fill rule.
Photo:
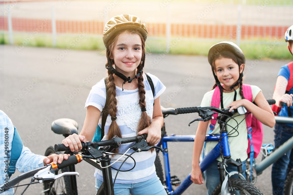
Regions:
<instances>
[{"instance_id":1,"label":"black front tyre of the blue bicycle at the bottom","mask_svg":"<svg viewBox=\"0 0 293 195\"><path fill-rule=\"evenodd\" d=\"M256 187L254 187L251 183L247 182L246 180L242 180L240 178L230 178L230 181L236 191L236 194L262 195L262 193ZM212 195L221 194L221 188L222 184L219 184Z\"/></svg>"}]
</instances>

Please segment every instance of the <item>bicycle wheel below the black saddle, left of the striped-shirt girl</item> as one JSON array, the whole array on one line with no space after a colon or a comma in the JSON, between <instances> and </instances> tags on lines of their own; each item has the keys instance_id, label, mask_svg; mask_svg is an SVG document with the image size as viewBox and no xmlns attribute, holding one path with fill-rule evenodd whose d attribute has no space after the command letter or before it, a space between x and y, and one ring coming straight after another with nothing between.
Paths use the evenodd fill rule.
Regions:
<instances>
[{"instance_id":1,"label":"bicycle wheel below the black saddle, left of the striped-shirt girl","mask_svg":"<svg viewBox=\"0 0 293 195\"><path fill-rule=\"evenodd\" d=\"M55 152L55 149L50 146L49 148L47 148L46 152L45 152L45 156L49 156L51 154L60 154L61 152ZM65 167L61 170L58 170L58 172L60 173L60 171L63 172L69 172L69 168ZM57 175L58 172L56 171L55 174ZM46 182L44 183L44 190L50 189L45 191L45 195L65 195L65 194L71 194L71 189L70 189L70 176L63 176L58 178L57 180L53 181L53 182Z\"/></svg>"}]
</instances>

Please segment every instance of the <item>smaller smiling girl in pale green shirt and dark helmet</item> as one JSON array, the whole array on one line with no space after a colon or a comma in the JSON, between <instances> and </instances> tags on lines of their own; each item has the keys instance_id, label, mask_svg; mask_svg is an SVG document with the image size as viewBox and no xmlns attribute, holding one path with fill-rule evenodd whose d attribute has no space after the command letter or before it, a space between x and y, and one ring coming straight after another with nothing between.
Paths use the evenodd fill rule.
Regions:
<instances>
[{"instance_id":1,"label":"smaller smiling girl in pale green shirt and dark helmet","mask_svg":"<svg viewBox=\"0 0 293 195\"><path fill-rule=\"evenodd\" d=\"M268 125L269 127L273 127L275 125L274 114L259 87L251 85L253 96L252 102L254 101L256 105L251 101L244 99L242 91L242 77L245 66L245 56L236 44L232 42L220 42L213 45L209 50L208 61L212 66L212 72L216 80L216 84L211 91L204 95L200 105L201 107L211 106L212 96L215 88L218 87L219 90L222 91L220 108L228 108L231 106L229 111L232 111L232 109L236 109L239 106L244 106L263 124ZM238 115L238 113L232 117L236 115ZM239 134L237 136L235 136L235 134L231 134L231 137L228 137L231 158L233 160L238 158L241 159L243 165L242 170L246 170L245 161L248 157L248 134L246 120L244 120L244 118L245 115L239 115L234 118L237 122L229 120L229 126L227 125L227 131L231 132L232 127L236 127L236 125L239 124L237 129ZM202 180L202 172L199 167L199 158L205 141L208 125L209 121L200 121L195 134L191 180L196 184L204 183ZM210 133L219 134L219 131L219 123L216 123L214 129ZM216 144L217 142L207 142L205 155L209 153ZM222 161L221 157L219 157L217 161L213 162L205 171L205 183L208 189L207 194L212 194L214 189L220 183L219 170L217 169L218 161ZM237 171L237 167L231 167L230 165L226 168L226 170L228 172Z\"/></svg>"}]
</instances>

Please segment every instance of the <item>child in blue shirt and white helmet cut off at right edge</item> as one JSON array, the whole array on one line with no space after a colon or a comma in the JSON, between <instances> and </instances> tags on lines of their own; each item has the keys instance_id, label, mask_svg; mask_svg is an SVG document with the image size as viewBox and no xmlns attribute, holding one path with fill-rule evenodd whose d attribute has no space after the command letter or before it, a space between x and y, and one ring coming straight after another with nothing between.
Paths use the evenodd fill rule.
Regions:
<instances>
[{"instance_id":1,"label":"child in blue shirt and white helmet cut off at right edge","mask_svg":"<svg viewBox=\"0 0 293 195\"><path fill-rule=\"evenodd\" d=\"M293 25L285 32L285 41L288 42L288 50L292 54L293 50ZM293 54L292 54L293 55ZM276 106L280 108L278 116L292 117L292 97L293 97L293 61L282 66L278 76L273 99L276 100ZM284 102L287 106L281 108L280 103ZM272 107L273 108L273 107ZM293 124L276 123L275 125L275 147L280 146L293 136ZM287 170L293 168L293 153L288 151L286 155L278 159L272 166L272 188L274 195L282 195L284 192Z\"/></svg>"}]
</instances>

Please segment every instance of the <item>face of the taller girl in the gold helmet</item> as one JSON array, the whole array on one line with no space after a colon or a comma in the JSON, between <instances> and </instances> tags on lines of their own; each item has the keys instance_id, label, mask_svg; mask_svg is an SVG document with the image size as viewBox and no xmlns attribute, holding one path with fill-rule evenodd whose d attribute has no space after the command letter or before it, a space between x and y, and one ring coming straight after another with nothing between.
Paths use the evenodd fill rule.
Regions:
<instances>
[{"instance_id":1,"label":"face of the taller girl in the gold helmet","mask_svg":"<svg viewBox=\"0 0 293 195\"><path fill-rule=\"evenodd\" d=\"M139 35L129 32L119 34L111 59L114 59L118 72L126 77L134 76L142 60L142 40Z\"/></svg>"}]
</instances>

